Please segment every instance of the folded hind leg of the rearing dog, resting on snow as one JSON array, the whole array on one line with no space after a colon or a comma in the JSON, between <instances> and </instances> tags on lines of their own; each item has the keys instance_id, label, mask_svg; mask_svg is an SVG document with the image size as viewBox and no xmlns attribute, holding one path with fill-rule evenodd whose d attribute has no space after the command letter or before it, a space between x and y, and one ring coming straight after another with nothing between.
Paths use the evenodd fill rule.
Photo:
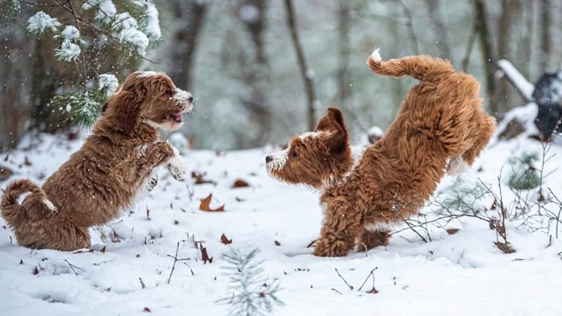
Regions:
<instances>
[{"instance_id":1,"label":"folded hind leg of the rearing dog, resting on snow","mask_svg":"<svg viewBox=\"0 0 562 316\"><path fill-rule=\"evenodd\" d=\"M90 248L88 227L64 219L31 223L15 230L20 245L34 249L76 250Z\"/></svg>"}]
</instances>

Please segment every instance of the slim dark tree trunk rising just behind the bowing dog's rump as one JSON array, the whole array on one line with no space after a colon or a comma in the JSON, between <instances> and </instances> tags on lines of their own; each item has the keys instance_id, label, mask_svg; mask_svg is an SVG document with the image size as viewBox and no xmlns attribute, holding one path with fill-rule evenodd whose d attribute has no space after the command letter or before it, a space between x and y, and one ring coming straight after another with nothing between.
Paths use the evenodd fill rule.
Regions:
<instances>
[{"instance_id":1,"label":"slim dark tree trunk rising just behind the bowing dog's rump","mask_svg":"<svg viewBox=\"0 0 562 316\"><path fill-rule=\"evenodd\" d=\"M496 82L494 72L496 70L496 56L493 49L492 38L487 22L487 11L484 0L473 0L474 2L474 18L478 23L478 37L482 47L482 58L484 68L486 69L486 92L488 94L488 102L490 112L493 116L498 116Z\"/></svg>"}]
</instances>

